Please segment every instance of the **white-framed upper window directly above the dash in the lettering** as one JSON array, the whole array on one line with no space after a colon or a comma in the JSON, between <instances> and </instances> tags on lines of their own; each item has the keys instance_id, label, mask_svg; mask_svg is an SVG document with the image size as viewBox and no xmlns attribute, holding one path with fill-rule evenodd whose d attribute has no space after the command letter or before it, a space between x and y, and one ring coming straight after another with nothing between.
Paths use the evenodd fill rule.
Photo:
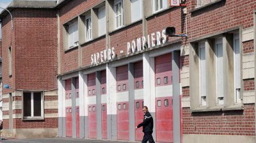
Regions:
<instances>
[{"instance_id":1,"label":"white-framed upper window directly above the dash in the lettering","mask_svg":"<svg viewBox=\"0 0 256 143\"><path fill-rule=\"evenodd\" d=\"M119 7L119 3L121 3L121 14L117 14L117 10L116 10L116 5L118 5ZM121 16L121 23L120 25L117 25L117 17L119 20L119 16ZM119 24L120 21L118 21ZM121 28L123 27L123 1L122 0L115 0L114 1L114 25L115 25L115 29Z\"/></svg>"}]
</instances>

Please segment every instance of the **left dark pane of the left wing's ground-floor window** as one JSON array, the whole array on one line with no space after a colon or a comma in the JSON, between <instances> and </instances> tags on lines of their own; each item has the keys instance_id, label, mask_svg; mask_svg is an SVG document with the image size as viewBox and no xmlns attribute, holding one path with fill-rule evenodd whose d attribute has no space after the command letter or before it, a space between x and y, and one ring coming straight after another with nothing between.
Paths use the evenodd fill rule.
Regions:
<instances>
[{"instance_id":1,"label":"left dark pane of the left wing's ground-floor window","mask_svg":"<svg viewBox=\"0 0 256 143\"><path fill-rule=\"evenodd\" d=\"M24 116L31 116L31 93L23 93L23 110Z\"/></svg>"}]
</instances>

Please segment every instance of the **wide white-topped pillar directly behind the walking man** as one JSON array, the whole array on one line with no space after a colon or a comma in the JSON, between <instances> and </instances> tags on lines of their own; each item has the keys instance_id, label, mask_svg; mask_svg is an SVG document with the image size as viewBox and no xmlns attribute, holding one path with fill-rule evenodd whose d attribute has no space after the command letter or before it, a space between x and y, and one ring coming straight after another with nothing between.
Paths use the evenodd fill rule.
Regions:
<instances>
[{"instance_id":1,"label":"wide white-topped pillar directly behind the walking man","mask_svg":"<svg viewBox=\"0 0 256 143\"><path fill-rule=\"evenodd\" d=\"M149 53L143 53L143 84L144 105L148 107L155 121L155 58L150 57ZM156 138L155 132L154 128L152 134L154 138Z\"/></svg>"}]
</instances>

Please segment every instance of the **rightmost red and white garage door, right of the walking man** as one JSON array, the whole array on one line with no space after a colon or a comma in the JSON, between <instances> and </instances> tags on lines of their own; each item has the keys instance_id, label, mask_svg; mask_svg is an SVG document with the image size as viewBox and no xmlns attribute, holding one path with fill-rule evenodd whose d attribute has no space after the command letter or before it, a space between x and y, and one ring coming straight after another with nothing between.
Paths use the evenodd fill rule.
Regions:
<instances>
[{"instance_id":1,"label":"rightmost red and white garage door, right of the walking man","mask_svg":"<svg viewBox=\"0 0 256 143\"><path fill-rule=\"evenodd\" d=\"M172 57L155 57L156 141L173 142Z\"/></svg>"}]
</instances>

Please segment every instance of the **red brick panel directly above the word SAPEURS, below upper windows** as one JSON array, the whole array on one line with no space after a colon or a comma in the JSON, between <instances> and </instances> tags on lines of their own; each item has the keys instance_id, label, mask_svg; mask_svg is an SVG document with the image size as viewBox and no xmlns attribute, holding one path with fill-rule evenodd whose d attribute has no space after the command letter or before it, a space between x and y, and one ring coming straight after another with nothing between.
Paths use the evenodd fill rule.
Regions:
<instances>
[{"instance_id":1,"label":"red brick panel directly above the word SAPEURS, below upper windows","mask_svg":"<svg viewBox=\"0 0 256 143\"><path fill-rule=\"evenodd\" d=\"M88 45L85 45L84 47L82 47L82 66L90 65L92 62L92 60L90 59L91 55L100 53L100 51L105 49L106 49L105 37L102 37L93 42L90 42Z\"/></svg>"}]
</instances>

